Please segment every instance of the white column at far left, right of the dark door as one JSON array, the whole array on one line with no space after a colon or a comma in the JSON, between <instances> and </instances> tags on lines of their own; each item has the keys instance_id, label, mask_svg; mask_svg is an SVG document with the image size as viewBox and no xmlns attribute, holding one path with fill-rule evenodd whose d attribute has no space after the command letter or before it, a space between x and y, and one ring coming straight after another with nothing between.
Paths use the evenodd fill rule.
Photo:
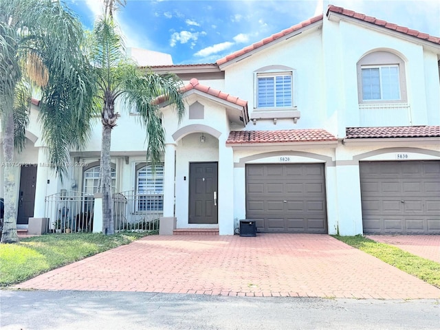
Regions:
<instances>
[{"instance_id":1,"label":"white column at far left, right of the dark door","mask_svg":"<svg viewBox=\"0 0 440 330\"><path fill-rule=\"evenodd\" d=\"M47 179L49 177L49 166L47 164L46 148L39 148L39 161L36 169L35 204L34 218L45 217L45 197L47 196Z\"/></svg>"}]
</instances>

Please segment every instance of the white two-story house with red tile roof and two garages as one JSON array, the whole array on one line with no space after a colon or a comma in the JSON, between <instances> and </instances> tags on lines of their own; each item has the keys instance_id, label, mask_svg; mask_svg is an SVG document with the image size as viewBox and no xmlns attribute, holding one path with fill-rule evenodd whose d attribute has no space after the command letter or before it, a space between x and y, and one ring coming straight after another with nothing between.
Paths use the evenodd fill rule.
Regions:
<instances>
[{"instance_id":1,"label":"white two-story house with red tile roof and two garages","mask_svg":"<svg viewBox=\"0 0 440 330\"><path fill-rule=\"evenodd\" d=\"M135 111L121 111L115 192L140 196L132 214L219 234L239 219L259 232L440 234L439 60L438 37L330 5L217 63L153 67L184 80L186 116L177 122L162 103L166 153L154 173ZM61 188L96 192L101 129L72 152L78 166L62 186L41 166L34 123L16 159L38 170L17 173L44 217L45 196Z\"/></svg>"}]
</instances>

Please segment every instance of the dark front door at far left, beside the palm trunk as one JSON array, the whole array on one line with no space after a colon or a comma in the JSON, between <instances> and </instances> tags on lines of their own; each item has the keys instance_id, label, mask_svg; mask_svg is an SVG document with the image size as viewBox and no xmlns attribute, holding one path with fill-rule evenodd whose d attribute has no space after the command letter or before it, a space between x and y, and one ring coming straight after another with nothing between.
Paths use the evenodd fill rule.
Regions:
<instances>
[{"instance_id":1,"label":"dark front door at far left, beside the palm trunk","mask_svg":"<svg viewBox=\"0 0 440 330\"><path fill-rule=\"evenodd\" d=\"M36 166L22 166L20 175L19 213L17 225L27 225L34 217Z\"/></svg>"}]
</instances>

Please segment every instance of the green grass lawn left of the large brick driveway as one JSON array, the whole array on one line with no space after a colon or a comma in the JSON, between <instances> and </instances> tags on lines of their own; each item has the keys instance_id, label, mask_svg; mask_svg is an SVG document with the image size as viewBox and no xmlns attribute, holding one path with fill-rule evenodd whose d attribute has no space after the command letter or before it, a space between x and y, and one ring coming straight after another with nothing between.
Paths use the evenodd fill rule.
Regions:
<instances>
[{"instance_id":1,"label":"green grass lawn left of the large brick driveway","mask_svg":"<svg viewBox=\"0 0 440 330\"><path fill-rule=\"evenodd\" d=\"M111 236L97 233L47 234L0 244L0 287L28 280L39 274L129 244L151 232L123 232Z\"/></svg>"}]
</instances>

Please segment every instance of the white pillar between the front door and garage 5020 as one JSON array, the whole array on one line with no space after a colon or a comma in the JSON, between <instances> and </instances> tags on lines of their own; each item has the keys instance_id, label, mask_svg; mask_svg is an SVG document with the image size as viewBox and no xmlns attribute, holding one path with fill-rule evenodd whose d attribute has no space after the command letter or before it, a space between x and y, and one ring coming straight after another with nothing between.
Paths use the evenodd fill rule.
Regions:
<instances>
[{"instance_id":1,"label":"white pillar between the front door and garage 5020","mask_svg":"<svg viewBox=\"0 0 440 330\"><path fill-rule=\"evenodd\" d=\"M227 136L226 136L227 138ZM219 138L219 234L234 234L234 151Z\"/></svg>"}]
</instances>

